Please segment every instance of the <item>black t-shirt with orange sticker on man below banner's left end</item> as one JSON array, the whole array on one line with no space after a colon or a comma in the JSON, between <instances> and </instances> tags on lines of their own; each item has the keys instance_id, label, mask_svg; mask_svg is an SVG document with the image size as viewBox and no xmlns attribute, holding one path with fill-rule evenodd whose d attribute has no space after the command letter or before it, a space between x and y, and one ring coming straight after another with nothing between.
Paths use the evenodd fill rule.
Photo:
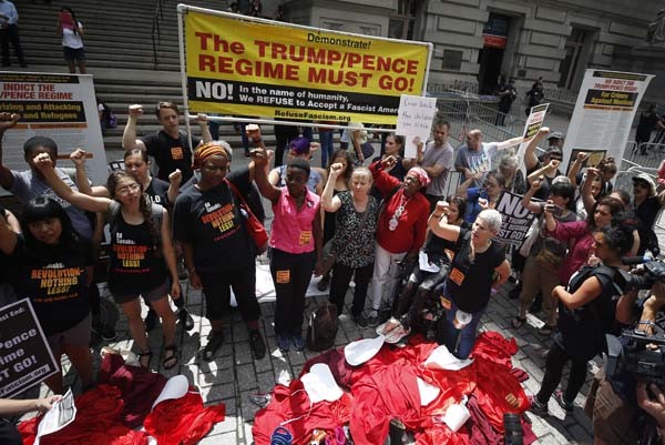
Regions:
<instances>
[{"instance_id":1,"label":"black t-shirt with orange sticker on man below banner's left end","mask_svg":"<svg viewBox=\"0 0 665 445\"><path fill-rule=\"evenodd\" d=\"M168 174L175 169L183 172L183 182L186 182L192 176L192 148L187 133L178 131L178 138L173 139L164 130L141 138L147 154L155 159L160 172L157 178L163 181L168 181ZM201 139L192 136L192 143L197 146Z\"/></svg>"}]
</instances>

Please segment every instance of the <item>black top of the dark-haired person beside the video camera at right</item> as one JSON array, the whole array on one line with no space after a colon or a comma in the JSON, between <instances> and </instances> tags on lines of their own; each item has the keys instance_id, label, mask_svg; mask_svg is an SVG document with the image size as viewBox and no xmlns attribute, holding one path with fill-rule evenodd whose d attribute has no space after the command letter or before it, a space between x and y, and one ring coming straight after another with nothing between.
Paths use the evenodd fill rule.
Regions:
<instances>
[{"instance_id":1,"label":"black top of the dark-haired person beside the video camera at right","mask_svg":"<svg viewBox=\"0 0 665 445\"><path fill-rule=\"evenodd\" d=\"M586 280L595 277L601 283L601 295L574 310L559 302L559 332L553 340L574 357L591 360L605 347L605 333L614 324L616 312L613 297L621 294L614 286L614 273L612 267L582 267L571 277L569 292L574 293Z\"/></svg>"}]
</instances>

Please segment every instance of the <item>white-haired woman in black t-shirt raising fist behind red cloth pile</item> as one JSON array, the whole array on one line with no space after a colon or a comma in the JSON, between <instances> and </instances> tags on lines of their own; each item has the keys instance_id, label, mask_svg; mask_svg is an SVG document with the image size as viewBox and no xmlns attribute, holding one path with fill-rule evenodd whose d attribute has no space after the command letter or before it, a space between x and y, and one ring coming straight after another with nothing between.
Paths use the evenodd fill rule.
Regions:
<instances>
[{"instance_id":1,"label":"white-haired woman in black t-shirt raising fist behind red cloth pile","mask_svg":"<svg viewBox=\"0 0 665 445\"><path fill-rule=\"evenodd\" d=\"M457 243L441 301L447 310L446 346L467 358L475 342L475 328L488 307L491 290L510 276L505 251L492 237L501 229L501 214L492 209L478 214L471 230L448 223L449 204L439 201L428 225L438 236ZM459 346L458 346L459 340ZM456 353L457 350L457 353Z\"/></svg>"}]
</instances>

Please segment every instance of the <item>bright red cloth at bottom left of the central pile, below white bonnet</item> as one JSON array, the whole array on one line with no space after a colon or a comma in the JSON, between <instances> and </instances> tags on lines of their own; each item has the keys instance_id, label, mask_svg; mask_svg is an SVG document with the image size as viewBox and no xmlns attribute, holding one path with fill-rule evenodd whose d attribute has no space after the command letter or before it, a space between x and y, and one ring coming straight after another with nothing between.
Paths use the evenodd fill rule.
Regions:
<instances>
[{"instance_id":1,"label":"bright red cloth at bottom left of the central pile, below white bonnet","mask_svg":"<svg viewBox=\"0 0 665 445\"><path fill-rule=\"evenodd\" d=\"M282 425L294 436L294 445L309 445L314 429L332 433L336 426L348 423L350 408L351 397L346 393L336 402L311 405L300 381L276 385L268 406L254 416L252 435L256 445L268 445L270 435Z\"/></svg>"}]
</instances>

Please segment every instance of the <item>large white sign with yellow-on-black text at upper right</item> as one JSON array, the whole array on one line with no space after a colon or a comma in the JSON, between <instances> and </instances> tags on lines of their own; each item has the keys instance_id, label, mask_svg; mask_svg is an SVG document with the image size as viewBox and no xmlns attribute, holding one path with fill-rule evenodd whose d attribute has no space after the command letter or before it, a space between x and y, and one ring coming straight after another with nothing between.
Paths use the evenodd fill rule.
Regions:
<instances>
[{"instance_id":1,"label":"large white sign with yellow-on-black text at upper right","mask_svg":"<svg viewBox=\"0 0 665 445\"><path fill-rule=\"evenodd\" d=\"M622 159L635 112L653 78L632 72L586 70L565 136L562 165L570 165L573 150L602 149L607 151L607 156Z\"/></svg>"}]
</instances>

